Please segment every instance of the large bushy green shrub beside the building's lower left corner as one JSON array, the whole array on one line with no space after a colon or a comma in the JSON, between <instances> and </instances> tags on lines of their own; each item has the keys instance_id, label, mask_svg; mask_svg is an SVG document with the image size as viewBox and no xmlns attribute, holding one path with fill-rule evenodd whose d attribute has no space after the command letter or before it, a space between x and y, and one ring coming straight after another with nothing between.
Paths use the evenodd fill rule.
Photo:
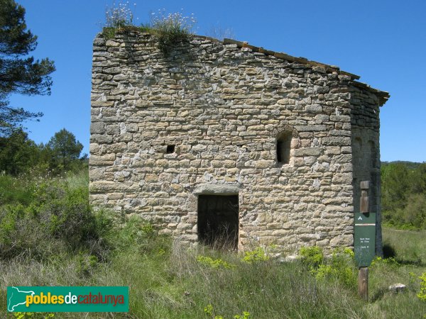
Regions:
<instances>
[{"instance_id":1,"label":"large bushy green shrub beside the building's lower left corner","mask_svg":"<svg viewBox=\"0 0 426 319\"><path fill-rule=\"evenodd\" d=\"M31 201L0 208L0 259L22 254L46 259L67 250L104 258L107 243L103 237L111 220L103 211L92 211L87 184L74 181L72 186L59 179L35 179L28 184L33 189Z\"/></svg>"}]
</instances>

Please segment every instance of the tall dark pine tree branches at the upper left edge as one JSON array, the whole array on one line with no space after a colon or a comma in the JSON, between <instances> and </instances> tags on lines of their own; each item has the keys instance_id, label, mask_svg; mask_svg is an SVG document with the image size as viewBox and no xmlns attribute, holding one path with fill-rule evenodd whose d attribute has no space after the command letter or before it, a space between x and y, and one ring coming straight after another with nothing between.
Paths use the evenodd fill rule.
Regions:
<instances>
[{"instance_id":1,"label":"tall dark pine tree branches at the upper left edge","mask_svg":"<svg viewBox=\"0 0 426 319\"><path fill-rule=\"evenodd\" d=\"M50 94L49 74L55 65L48 58L28 57L36 46L37 36L27 30L25 9L14 0L0 0L0 135L10 135L22 121L43 115L9 106L8 101L12 93Z\"/></svg>"}]
</instances>

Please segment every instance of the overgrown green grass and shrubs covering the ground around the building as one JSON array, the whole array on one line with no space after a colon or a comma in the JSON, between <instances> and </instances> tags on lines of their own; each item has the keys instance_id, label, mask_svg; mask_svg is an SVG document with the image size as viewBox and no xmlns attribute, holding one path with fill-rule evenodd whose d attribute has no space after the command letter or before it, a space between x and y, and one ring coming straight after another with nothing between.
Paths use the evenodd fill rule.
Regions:
<instances>
[{"instance_id":1,"label":"overgrown green grass and shrubs covering the ground around the building","mask_svg":"<svg viewBox=\"0 0 426 319\"><path fill-rule=\"evenodd\" d=\"M94 213L87 206L84 174L37 181L37 187L0 177L1 183L9 185L0 193L0 309L5 317L6 286L12 285L130 287L129 313L55 313L54 318L426 315L426 302L417 298L418 277L426 272L426 231L383 229L388 258L370 267L366 303L357 296L350 254L339 252L314 264L307 259L280 262L262 250L244 257L207 247L188 249L138 218L111 223L109 212ZM82 218L84 223L75 222ZM406 291L388 291L396 283L407 285Z\"/></svg>"}]
</instances>

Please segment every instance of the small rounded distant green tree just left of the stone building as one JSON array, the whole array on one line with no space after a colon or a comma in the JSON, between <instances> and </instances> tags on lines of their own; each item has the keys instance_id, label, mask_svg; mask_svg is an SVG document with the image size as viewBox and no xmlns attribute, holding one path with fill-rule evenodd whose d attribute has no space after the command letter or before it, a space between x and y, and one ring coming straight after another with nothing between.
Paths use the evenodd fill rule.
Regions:
<instances>
[{"instance_id":1,"label":"small rounded distant green tree just left of the stone building","mask_svg":"<svg viewBox=\"0 0 426 319\"><path fill-rule=\"evenodd\" d=\"M55 167L62 170L72 169L73 164L80 158L83 145L75 139L75 135L62 128L50 138L48 147L52 150Z\"/></svg>"}]
</instances>

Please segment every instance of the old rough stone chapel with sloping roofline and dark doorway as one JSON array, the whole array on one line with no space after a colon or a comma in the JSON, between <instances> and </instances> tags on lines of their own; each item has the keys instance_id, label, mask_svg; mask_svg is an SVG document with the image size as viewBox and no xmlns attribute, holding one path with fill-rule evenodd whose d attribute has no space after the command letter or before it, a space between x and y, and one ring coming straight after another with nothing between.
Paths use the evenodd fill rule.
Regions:
<instances>
[{"instance_id":1,"label":"old rough stone chapel with sloping roofline and dark doorway","mask_svg":"<svg viewBox=\"0 0 426 319\"><path fill-rule=\"evenodd\" d=\"M357 79L235 40L195 36L165 55L148 33L98 35L91 201L182 242L351 247L359 181L380 222L389 97Z\"/></svg>"}]
</instances>

